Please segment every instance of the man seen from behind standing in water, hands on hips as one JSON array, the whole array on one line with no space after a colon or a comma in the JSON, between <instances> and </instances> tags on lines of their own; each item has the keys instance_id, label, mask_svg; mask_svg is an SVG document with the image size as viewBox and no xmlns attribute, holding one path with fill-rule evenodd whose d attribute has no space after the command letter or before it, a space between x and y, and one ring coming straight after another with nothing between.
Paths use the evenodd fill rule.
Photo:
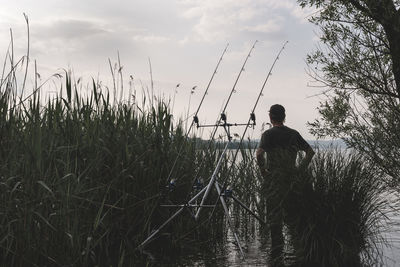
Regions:
<instances>
[{"instance_id":1,"label":"man seen from behind standing in water, hands on hips","mask_svg":"<svg viewBox=\"0 0 400 267\"><path fill-rule=\"evenodd\" d=\"M273 266L280 266L284 245L282 204L296 168L307 167L314 151L296 130L283 125L286 117L283 106L272 105L269 117L273 127L262 134L256 154L258 166L264 177L263 194L271 234L271 260ZM300 150L305 151L306 156L296 167L297 152ZM267 154L267 160L264 158L264 152Z\"/></svg>"}]
</instances>

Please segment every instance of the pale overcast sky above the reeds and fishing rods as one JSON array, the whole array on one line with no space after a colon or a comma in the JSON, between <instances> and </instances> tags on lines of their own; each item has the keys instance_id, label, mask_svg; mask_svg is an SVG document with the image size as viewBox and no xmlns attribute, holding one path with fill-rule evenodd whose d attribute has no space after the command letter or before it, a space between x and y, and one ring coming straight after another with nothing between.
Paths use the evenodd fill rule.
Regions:
<instances>
[{"instance_id":1,"label":"pale overcast sky above the reeds and fishing rods","mask_svg":"<svg viewBox=\"0 0 400 267\"><path fill-rule=\"evenodd\" d=\"M110 64L122 66L124 100L131 91L140 99L142 88L173 102L175 118L186 118L198 107L215 66L229 43L198 117L213 123L233 87L252 44L258 43L236 86L226 114L232 123L244 123L267 73L282 45L289 41L270 76L256 109L257 126L249 132L259 138L268 122L268 109L286 108L286 125L306 139L315 139L307 122L318 117L321 88L310 86L305 63L318 45L309 16L295 0L0 0L0 59L10 45L12 29L15 58L26 54L29 19L30 65L40 82L55 73L72 70L81 90L91 79L112 87ZM22 68L21 68L22 69ZM22 71L22 70L20 70ZM61 81L43 87L44 98L54 95ZM179 84L179 87L176 87ZM196 86L194 93L191 89ZM189 105L190 104L190 105ZM188 120L190 123L191 119ZM241 135L243 128L232 129ZM199 132L198 134L201 134ZM203 132L204 134L204 132Z\"/></svg>"}]
</instances>

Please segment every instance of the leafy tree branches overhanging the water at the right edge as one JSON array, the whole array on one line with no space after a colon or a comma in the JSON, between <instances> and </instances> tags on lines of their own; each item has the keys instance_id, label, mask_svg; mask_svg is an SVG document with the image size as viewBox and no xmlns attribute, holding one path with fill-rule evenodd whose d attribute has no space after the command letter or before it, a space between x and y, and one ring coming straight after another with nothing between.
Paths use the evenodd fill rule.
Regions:
<instances>
[{"instance_id":1,"label":"leafy tree branches overhanging the water at the right edge","mask_svg":"<svg viewBox=\"0 0 400 267\"><path fill-rule=\"evenodd\" d=\"M317 12L310 21L321 45L307 57L310 75L326 86L318 137L344 138L400 184L400 1L298 0Z\"/></svg>"}]
</instances>

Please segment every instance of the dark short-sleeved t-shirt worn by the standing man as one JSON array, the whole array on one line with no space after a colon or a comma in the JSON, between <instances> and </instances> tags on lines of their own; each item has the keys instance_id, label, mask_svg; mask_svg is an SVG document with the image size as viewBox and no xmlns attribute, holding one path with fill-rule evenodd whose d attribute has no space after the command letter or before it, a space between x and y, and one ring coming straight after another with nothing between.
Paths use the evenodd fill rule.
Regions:
<instances>
[{"instance_id":1,"label":"dark short-sleeved t-shirt worn by the standing man","mask_svg":"<svg viewBox=\"0 0 400 267\"><path fill-rule=\"evenodd\" d=\"M259 147L267 153L269 171L293 168L297 152L311 148L299 132L286 126L274 126L266 130L261 136Z\"/></svg>"}]
</instances>

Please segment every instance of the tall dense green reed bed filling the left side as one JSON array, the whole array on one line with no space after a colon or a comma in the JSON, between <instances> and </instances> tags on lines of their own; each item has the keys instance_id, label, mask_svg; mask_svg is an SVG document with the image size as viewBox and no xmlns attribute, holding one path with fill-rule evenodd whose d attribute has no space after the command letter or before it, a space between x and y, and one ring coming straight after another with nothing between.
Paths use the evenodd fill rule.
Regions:
<instances>
[{"instance_id":1,"label":"tall dense green reed bed filling the left side","mask_svg":"<svg viewBox=\"0 0 400 267\"><path fill-rule=\"evenodd\" d=\"M81 97L66 73L66 97L45 104L40 91L18 104L15 88L1 88L2 265L133 264L132 251L170 215L159 204L187 200L199 152L168 101L114 105L92 86ZM218 155L202 153L207 176ZM168 192L178 156L171 177L177 187ZM169 230L193 227L189 220Z\"/></svg>"}]
</instances>

